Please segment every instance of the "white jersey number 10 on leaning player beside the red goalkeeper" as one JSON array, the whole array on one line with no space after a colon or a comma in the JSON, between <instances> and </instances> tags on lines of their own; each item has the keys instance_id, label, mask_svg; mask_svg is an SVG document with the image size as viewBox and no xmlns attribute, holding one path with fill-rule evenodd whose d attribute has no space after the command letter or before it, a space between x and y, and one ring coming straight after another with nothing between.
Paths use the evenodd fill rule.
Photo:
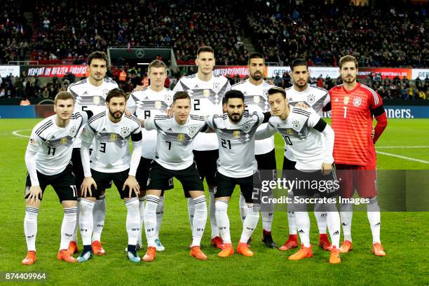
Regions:
<instances>
[{"instance_id":1,"label":"white jersey number 10 on leaning player beside the red goalkeeper","mask_svg":"<svg viewBox=\"0 0 429 286\"><path fill-rule=\"evenodd\" d=\"M314 129L320 120L320 116L314 111L305 111L291 106L290 114L285 121L278 116L273 116L268 121L268 132L271 134L280 132L285 140L285 147L292 151L292 155L296 158L295 168L298 170L320 170L322 163L334 163L332 157L334 132L329 125L326 125L324 134L329 132L329 138L327 138L329 146L326 148L322 132Z\"/></svg>"}]
</instances>

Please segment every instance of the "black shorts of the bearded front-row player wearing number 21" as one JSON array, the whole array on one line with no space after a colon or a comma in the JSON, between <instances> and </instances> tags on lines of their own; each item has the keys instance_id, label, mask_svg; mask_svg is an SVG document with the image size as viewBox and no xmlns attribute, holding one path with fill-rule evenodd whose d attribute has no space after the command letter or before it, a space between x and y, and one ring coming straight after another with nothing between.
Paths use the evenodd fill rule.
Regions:
<instances>
[{"instance_id":1,"label":"black shorts of the bearded front-row player wearing number 21","mask_svg":"<svg viewBox=\"0 0 429 286\"><path fill-rule=\"evenodd\" d=\"M240 186L240 192L246 203L259 203L261 193L261 178L259 172L243 178L233 178L216 173L216 186L214 186L214 198L231 197L236 185Z\"/></svg>"}]
</instances>

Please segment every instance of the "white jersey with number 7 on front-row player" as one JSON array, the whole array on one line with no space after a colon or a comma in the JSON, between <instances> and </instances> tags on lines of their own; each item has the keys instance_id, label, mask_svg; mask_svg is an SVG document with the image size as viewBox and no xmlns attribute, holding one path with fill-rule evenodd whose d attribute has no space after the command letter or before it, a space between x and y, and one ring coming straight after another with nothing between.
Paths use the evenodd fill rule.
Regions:
<instances>
[{"instance_id":1,"label":"white jersey with number 7 on front-row player","mask_svg":"<svg viewBox=\"0 0 429 286\"><path fill-rule=\"evenodd\" d=\"M158 133L154 160L168 170L183 170L192 165L194 139L207 130L207 123L192 114L183 125L174 117L158 115L145 120L144 128Z\"/></svg>"}]
</instances>

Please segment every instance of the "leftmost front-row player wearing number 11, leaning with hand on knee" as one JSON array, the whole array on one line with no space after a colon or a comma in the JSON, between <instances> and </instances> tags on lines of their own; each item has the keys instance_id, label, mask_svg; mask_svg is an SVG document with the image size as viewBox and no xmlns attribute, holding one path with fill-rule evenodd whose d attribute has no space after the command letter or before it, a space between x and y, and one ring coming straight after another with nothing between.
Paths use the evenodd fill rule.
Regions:
<instances>
[{"instance_id":1,"label":"leftmost front-row player wearing number 11, leaning with hand on knee","mask_svg":"<svg viewBox=\"0 0 429 286\"><path fill-rule=\"evenodd\" d=\"M24 265L34 264L36 261L37 214L39 214L43 192L49 184L53 186L64 208L57 259L76 262L76 259L67 251L76 225L77 213L77 190L69 161L73 143L88 116L86 112L73 114L73 110L73 95L67 91L61 91L55 96L56 115L38 123L33 128L29 139L25 152L28 173L25 182L24 232L28 252L27 257L22 260Z\"/></svg>"}]
</instances>

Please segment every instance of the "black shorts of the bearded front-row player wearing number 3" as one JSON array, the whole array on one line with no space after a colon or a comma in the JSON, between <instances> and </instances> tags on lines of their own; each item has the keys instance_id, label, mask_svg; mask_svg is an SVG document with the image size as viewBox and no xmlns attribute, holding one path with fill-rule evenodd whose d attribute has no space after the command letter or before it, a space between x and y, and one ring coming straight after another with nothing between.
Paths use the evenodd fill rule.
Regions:
<instances>
[{"instance_id":1,"label":"black shorts of the bearded front-row player wearing number 3","mask_svg":"<svg viewBox=\"0 0 429 286\"><path fill-rule=\"evenodd\" d=\"M107 186L109 184L111 185L111 182L113 181L116 189L118 189L119 195L121 195L121 198L134 198L136 195L132 191L131 197L130 197L130 189L128 186L125 188L124 191L122 191L123 183L125 183L125 180L128 179L128 172L130 172L130 169L127 169L122 172L98 172L96 170L91 169L91 174L93 175L93 179L95 183L97 184L97 189L92 187L91 191L93 193L93 198L100 198L100 194L104 189L107 189ZM88 194L87 194L88 196Z\"/></svg>"}]
</instances>

